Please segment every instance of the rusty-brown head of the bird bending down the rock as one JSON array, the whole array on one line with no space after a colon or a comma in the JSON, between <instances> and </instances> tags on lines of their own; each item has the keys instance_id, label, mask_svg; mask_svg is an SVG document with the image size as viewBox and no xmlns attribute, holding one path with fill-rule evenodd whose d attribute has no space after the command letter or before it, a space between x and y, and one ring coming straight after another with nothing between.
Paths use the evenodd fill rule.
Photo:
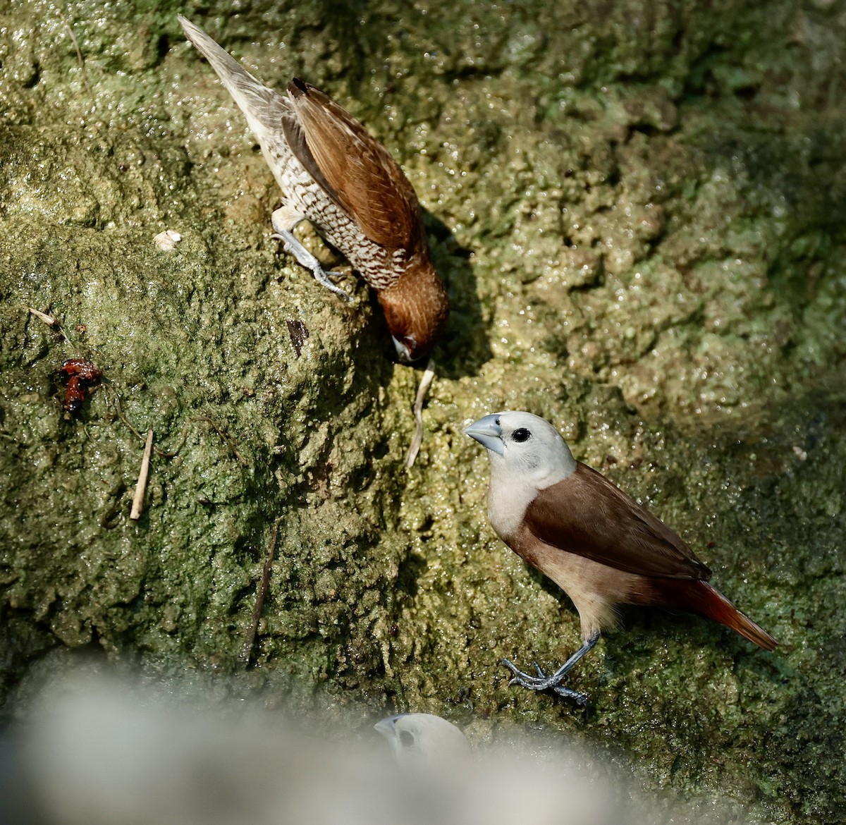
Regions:
<instances>
[{"instance_id":1,"label":"rusty-brown head of the bird bending down the rock","mask_svg":"<svg viewBox=\"0 0 846 825\"><path fill-rule=\"evenodd\" d=\"M428 355L449 317L447 289L431 262L409 267L377 295L399 360L412 364Z\"/></svg>"}]
</instances>

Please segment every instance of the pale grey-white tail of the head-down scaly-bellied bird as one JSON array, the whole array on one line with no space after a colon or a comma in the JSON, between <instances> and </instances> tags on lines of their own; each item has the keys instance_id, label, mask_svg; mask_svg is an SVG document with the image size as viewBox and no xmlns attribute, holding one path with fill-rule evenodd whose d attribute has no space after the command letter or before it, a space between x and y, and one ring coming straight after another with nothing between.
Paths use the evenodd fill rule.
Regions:
<instances>
[{"instance_id":1,"label":"pale grey-white tail of the head-down scaly-bellied bird","mask_svg":"<svg viewBox=\"0 0 846 825\"><path fill-rule=\"evenodd\" d=\"M248 72L226 49L220 47L199 26L179 14L179 24L185 36L195 45L217 72L222 84L233 96L241 111L246 115L256 135L262 135L265 129L271 128L274 117L278 117L290 110L287 97L277 95L268 89Z\"/></svg>"}]
</instances>

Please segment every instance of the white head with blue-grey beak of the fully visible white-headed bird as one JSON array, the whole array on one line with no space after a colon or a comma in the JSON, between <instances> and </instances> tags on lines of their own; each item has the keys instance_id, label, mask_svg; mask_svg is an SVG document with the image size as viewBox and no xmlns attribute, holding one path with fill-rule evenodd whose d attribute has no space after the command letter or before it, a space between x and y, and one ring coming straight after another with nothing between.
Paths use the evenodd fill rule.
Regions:
<instances>
[{"instance_id":1,"label":"white head with blue-grey beak of the fully visible white-headed bird","mask_svg":"<svg viewBox=\"0 0 846 825\"><path fill-rule=\"evenodd\" d=\"M492 470L538 490L576 469L570 448L548 421L527 412L501 412L474 421L464 433L488 451Z\"/></svg>"}]
</instances>

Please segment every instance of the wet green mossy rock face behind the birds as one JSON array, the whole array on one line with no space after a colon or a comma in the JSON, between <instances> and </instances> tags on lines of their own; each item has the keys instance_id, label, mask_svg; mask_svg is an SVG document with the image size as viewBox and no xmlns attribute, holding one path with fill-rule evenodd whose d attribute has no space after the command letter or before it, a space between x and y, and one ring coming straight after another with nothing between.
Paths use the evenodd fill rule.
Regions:
<instances>
[{"instance_id":1,"label":"wet green mossy rock face behind the birds","mask_svg":"<svg viewBox=\"0 0 846 825\"><path fill-rule=\"evenodd\" d=\"M8 8L4 690L92 647L329 715L466 723L469 689L477 742L542 725L646 789L837 822L844 23L759 5ZM268 84L330 91L420 193L453 320L408 474L417 374L354 278L341 305L277 254L275 184L178 11ZM72 420L54 371L77 355L107 381ZM500 657L553 666L578 630L486 525L461 430L506 408L688 538L777 652L631 611L574 674L588 712L509 689ZM127 421L178 452L154 458L138 524Z\"/></svg>"}]
</instances>

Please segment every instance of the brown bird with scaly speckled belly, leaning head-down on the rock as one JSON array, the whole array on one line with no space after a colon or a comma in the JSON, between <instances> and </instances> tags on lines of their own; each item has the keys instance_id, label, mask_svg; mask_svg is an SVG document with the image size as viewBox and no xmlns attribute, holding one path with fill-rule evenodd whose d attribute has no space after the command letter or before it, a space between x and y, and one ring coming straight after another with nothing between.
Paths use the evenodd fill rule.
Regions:
<instances>
[{"instance_id":1,"label":"brown bird with scaly speckled belly, leaning head-down on the rock","mask_svg":"<svg viewBox=\"0 0 846 825\"><path fill-rule=\"evenodd\" d=\"M376 290L397 354L426 355L446 326L447 290L429 257L414 187L387 149L324 92L294 78L283 97L261 84L181 15L188 39L211 63L247 118L284 192L272 226L284 248L332 292L316 257L294 237L309 220Z\"/></svg>"}]
</instances>

